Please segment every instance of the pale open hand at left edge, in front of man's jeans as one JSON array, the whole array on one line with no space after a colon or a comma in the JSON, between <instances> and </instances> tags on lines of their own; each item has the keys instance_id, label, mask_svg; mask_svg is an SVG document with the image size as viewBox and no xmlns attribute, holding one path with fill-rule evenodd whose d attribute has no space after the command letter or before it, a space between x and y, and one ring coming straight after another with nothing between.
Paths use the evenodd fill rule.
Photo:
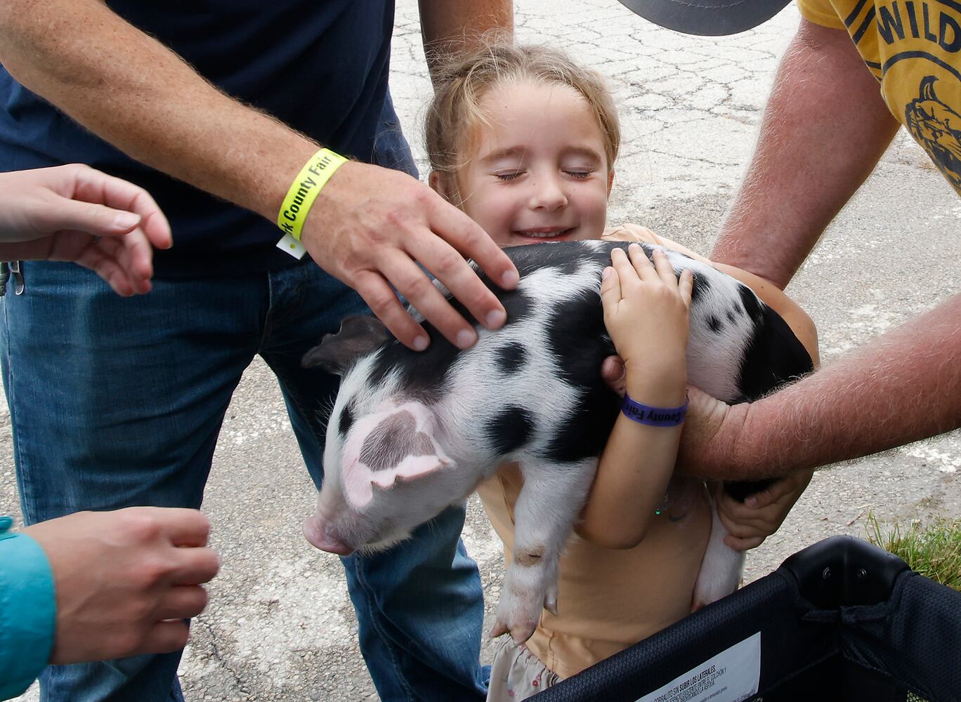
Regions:
<instances>
[{"instance_id":1,"label":"pale open hand at left edge, in front of man's jeans","mask_svg":"<svg viewBox=\"0 0 961 702\"><path fill-rule=\"evenodd\" d=\"M0 173L0 260L72 261L146 293L170 226L143 188L80 164Z\"/></svg>"}]
</instances>

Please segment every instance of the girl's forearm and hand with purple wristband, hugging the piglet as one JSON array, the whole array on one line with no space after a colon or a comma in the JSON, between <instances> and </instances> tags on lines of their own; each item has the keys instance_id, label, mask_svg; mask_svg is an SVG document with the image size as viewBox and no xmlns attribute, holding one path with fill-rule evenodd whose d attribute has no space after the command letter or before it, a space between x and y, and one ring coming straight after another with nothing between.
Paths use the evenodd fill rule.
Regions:
<instances>
[{"instance_id":1,"label":"girl's forearm and hand with purple wristband, hugging the piglet","mask_svg":"<svg viewBox=\"0 0 961 702\"><path fill-rule=\"evenodd\" d=\"M667 256L654 264L641 247L611 252L601 298L604 325L624 359L628 396L653 407L684 404L685 349L693 278L680 279ZM681 424L650 426L621 414L598 465L578 534L607 548L630 548L647 533L667 491L678 455Z\"/></svg>"}]
</instances>

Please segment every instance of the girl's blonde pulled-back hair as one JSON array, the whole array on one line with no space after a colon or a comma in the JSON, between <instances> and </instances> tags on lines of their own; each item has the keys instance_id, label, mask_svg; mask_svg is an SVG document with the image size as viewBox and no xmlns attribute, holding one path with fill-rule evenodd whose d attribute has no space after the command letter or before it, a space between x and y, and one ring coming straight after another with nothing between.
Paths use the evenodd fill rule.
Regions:
<instances>
[{"instance_id":1,"label":"girl's blonde pulled-back hair","mask_svg":"<svg viewBox=\"0 0 961 702\"><path fill-rule=\"evenodd\" d=\"M607 168L614 167L621 130L604 78L556 49L495 41L449 62L438 72L427 116L427 151L431 169L442 174L455 193L456 173L464 165L458 155L464 151L466 138L473 136L478 125L489 124L480 109L481 99L499 85L523 83L566 85L577 90L601 127Z\"/></svg>"}]
</instances>

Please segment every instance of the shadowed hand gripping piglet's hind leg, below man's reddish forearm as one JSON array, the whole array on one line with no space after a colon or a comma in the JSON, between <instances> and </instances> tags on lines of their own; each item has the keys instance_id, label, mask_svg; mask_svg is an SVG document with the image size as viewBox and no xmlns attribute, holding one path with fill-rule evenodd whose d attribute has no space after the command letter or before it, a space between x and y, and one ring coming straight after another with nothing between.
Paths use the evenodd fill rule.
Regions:
<instances>
[{"instance_id":1,"label":"shadowed hand gripping piglet's hind leg, below man's reddish forearm","mask_svg":"<svg viewBox=\"0 0 961 702\"><path fill-rule=\"evenodd\" d=\"M741 503L718 486L718 517L727 527L724 543L744 551L764 543L774 534L811 482L814 471L795 471Z\"/></svg>"}]
</instances>

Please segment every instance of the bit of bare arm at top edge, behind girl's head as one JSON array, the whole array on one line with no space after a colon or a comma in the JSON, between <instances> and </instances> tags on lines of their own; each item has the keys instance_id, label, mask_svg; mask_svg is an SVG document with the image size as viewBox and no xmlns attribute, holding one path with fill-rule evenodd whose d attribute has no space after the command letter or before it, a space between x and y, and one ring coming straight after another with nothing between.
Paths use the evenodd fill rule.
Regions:
<instances>
[{"instance_id":1,"label":"bit of bare arm at top edge, behind girl's head","mask_svg":"<svg viewBox=\"0 0 961 702\"><path fill-rule=\"evenodd\" d=\"M480 45L484 35L514 35L513 0L420 0L421 34L431 78L451 54Z\"/></svg>"}]
</instances>

